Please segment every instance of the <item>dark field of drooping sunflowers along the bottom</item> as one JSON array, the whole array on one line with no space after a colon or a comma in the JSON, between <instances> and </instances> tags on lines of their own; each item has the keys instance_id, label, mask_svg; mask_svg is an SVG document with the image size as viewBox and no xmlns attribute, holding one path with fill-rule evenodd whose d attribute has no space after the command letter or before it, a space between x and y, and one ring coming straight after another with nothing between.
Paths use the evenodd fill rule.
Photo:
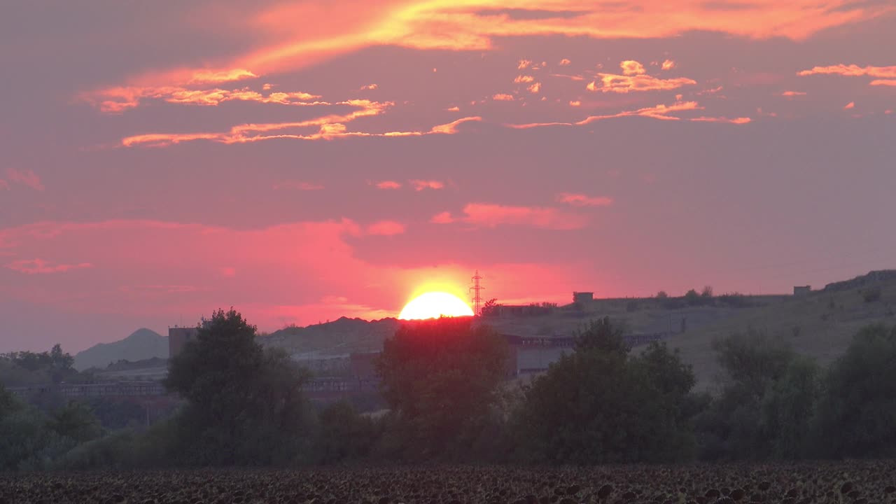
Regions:
<instances>
[{"instance_id":1,"label":"dark field of drooping sunflowers along the bottom","mask_svg":"<svg viewBox=\"0 0 896 504\"><path fill-rule=\"evenodd\" d=\"M896 461L521 469L416 467L0 476L0 503L729 504L896 502Z\"/></svg>"}]
</instances>

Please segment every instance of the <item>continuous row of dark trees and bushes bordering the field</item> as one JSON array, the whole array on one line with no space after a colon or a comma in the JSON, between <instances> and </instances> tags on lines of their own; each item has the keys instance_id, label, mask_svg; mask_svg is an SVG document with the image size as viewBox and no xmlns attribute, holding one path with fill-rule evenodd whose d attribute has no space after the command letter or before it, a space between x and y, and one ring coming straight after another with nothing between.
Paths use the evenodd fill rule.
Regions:
<instances>
[{"instance_id":1,"label":"continuous row of dark trees and bushes bordering the field","mask_svg":"<svg viewBox=\"0 0 896 504\"><path fill-rule=\"evenodd\" d=\"M306 370L283 352L263 349L255 341L255 327L236 311L219 311L200 327L196 341L169 362L166 387L185 405L148 429L103 429L89 405L69 403L41 410L0 389L0 471L896 457L896 328L866 327L829 368L752 330L719 340L715 351L725 370L718 393L696 394L694 373L677 352L663 343L634 352L622 331L603 318L583 327L573 352L544 376L520 386L506 379L508 349L487 326L465 318L407 324L386 341L377 363L390 410L366 415L344 403L324 408L310 404L301 393ZM65 355L56 353L55 361L47 356L48 362L65 368ZM882 474L889 465L861 467L867 467L869 474ZM593 500L600 482L616 489L610 501L633 500L623 496L628 491L638 495L640 490L639 500L654 500L665 492L667 497L657 502L679 502L676 496L682 488L688 500L699 495L710 499L705 492L718 487L719 494L741 488L745 495L765 500L780 500L796 489L790 504L797 504L807 495L826 495L844 478L859 477L853 469L806 467L798 468L806 472L803 476L762 467L750 473L660 467L644 473L622 469L534 473L535 486L504 481L521 482L528 473L494 469L476 476L482 479L482 488L462 481L467 473L461 469L417 474L431 486L416 487L407 486L412 473L352 473L358 482L341 473L330 473L329 480L298 474L289 478L299 478L297 484L304 490L289 491L299 492L304 500L318 495L316 502L331 504L335 501L324 496L347 492L378 504L387 502L375 499L392 494L402 499L415 495L420 501L463 501L467 494L462 492L474 488L481 500L496 494L502 501L527 495L537 500L554 496L556 501L569 497L567 493L574 494L569 497L573 500L586 496ZM549 474L556 479L552 481ZM243 485L245 496L246 491L262 491L253 485L262 484L264 478L275 477L151 474L111 480L111 487L121 490L109 497L123 495L120 492L141 478L146 478L141 492L161 491L166 478L186 478L191 488L200 485L194 491L233 492ZM756 479L771 482L771 490L762 490L761 481L751 482ZM69 488L64 479L17 481L63 482L61 487L51 484L47 491ZM861 495L874 501L883 499L879 496L883 490L874 486L879 483L853 481L861 487ZM98 486L92 491L108 491L109 485L94 484ZM275 494L287 491L279 481L273 484ZM626 488L629 484L632 487ZM582 493L563 485L581 485ZM439 497L433 498L434 492Z\"/></svg>"}]
</instances>

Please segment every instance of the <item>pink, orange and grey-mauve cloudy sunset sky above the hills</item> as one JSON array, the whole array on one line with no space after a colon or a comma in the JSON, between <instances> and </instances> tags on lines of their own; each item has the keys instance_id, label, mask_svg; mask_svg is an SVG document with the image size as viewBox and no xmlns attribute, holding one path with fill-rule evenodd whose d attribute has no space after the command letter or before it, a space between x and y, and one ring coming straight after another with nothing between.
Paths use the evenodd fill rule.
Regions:
<instances>
[{"instance_id":1,"label":"pink, orange and grey-mauve cloudy sunset sky above the hills","mask_svg":"<svg viewBox=\"0 0 896 504\"><path fill-rule=\"evenodd\" d=\"M0 6L0 352L894 267L892 0Z\"/></svg>"}]
</instances>

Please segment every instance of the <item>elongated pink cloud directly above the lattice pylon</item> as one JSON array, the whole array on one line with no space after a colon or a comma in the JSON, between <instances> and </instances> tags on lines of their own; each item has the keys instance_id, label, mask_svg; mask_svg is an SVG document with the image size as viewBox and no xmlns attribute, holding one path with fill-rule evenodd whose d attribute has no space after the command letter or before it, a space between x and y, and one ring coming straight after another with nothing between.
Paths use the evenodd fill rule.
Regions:
<instances>
[{"instance_id":1,"label":"elongated pink cloud directly above the lattice pylon","mask_svg":"<svg viewBox=\"0 0 896 504\"><path fill-rule=\"evenodd\" d=\"M438 213L430 222L443 224L466 222L487 228L500 225L527 225L549 230L577 230L588 223L582 215L538 206L470 203L463 207L463 213L464 216L460 218L454 218L447 212Z\"/></svg>"}]
</instances>

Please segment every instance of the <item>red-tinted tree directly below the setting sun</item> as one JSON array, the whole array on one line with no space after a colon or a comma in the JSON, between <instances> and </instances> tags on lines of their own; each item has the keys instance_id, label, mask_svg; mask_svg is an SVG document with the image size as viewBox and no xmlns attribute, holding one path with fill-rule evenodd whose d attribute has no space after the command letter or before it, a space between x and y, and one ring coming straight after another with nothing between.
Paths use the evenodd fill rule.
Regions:
<instances>
[{"instance_id":1,"label":"red-tinted tree directly below the setting sun","mask_svg":"<svg viewBox=\"0 0 896 504\"><path fill-rule=\"evenodd\" d=\"M504 340L469 318L409 322L376 363L386 402L406 425L408 456L463 458L461 438L489 417L507 370Z\"/></svg>"}]
</instances>

